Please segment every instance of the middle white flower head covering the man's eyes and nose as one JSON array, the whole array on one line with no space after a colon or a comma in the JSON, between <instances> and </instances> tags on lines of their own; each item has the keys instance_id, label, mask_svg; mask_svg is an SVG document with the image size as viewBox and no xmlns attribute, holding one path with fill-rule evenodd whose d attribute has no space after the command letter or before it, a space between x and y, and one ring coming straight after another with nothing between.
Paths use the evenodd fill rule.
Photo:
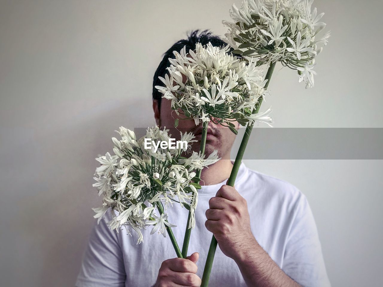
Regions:
<instances>
[{"instance_id":1,"label":"middle white flower head covering the man's eyes and nose","mask_svg":"<svg viewBox=\"0 0 383 287\"><path fill-rule=\"evenodd\" d=\"M255 62L228 54L229 45L214 47L196 44L195 51L186 52L185 46L175 59L169 58L169 75L159 77L165 86L155 86L163 98L172 100L172 109L181 109L195 124L208 122L229 126L233 132L238 121L245 126L254 106L264 95L264 77Z\"/></svg>"}]
</instances>

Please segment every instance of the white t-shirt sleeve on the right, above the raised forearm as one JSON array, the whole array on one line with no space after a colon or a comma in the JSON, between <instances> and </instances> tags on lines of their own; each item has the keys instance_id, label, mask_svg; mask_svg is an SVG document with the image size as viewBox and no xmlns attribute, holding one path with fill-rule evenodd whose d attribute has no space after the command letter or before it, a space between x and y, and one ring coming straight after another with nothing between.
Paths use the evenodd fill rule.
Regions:
<instances>
[{"instance_id":1,"label":"white t-shirt sleeve on the right, above the raised forearm","mask_svg":"<svg viewBox=\"0 0 383 287\"><path fill-rule=\"evenodd\" d=\"M303 287L330 287L314 216L301 192L292 217L283 271Z\"/></svg>"}]
</instances>

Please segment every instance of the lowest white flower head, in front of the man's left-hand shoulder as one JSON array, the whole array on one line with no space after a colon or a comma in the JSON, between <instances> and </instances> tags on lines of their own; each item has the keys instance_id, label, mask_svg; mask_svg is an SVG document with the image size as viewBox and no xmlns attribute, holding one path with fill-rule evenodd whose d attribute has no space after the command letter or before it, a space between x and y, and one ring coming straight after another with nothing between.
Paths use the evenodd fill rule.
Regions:
<instances>
[{"instance_id":1,"label":"lowest white flower head, in front of the man's left-hand shoulder","mask_svg":"<svg viewBox=\"0 0 383 287\"><path fill-rule=\"evenodd\" d=\"M178 202L191 210L190 227L194 228L197 189L201 188L192 182L197 180L194 170L218 161L217 152L211 153L206 159L196 152L189 158L183 157L182 153L190 149L189 144L196 142L192 133L181 133L181 140L188 142L188 147L159 147L154 152L154 147L144 148L144 139L168 141L169 130L160 130L157 126L148 128L146 136L138 140L133 131L124 127L120 127L117 132L121 140L112 138L115 155L107 152L105 156L96 158L101 166L96 169L97 177L94 179L97 183L93 187L97 188L99 196L103 194L102 207L93 208L98 222L111 207L113 219L108 222L111 230L116 229L118 232L121 226L127 227L129 234L135 230L138 244L143 241L141 229L147 225L154 225L151 234L158 231L166 236L165 225L174 225L167 222L162 202L165 203L165 210L168 204ZM159 216L155 214L156 209L159 210Z\"/></svg>"}]
</instances>

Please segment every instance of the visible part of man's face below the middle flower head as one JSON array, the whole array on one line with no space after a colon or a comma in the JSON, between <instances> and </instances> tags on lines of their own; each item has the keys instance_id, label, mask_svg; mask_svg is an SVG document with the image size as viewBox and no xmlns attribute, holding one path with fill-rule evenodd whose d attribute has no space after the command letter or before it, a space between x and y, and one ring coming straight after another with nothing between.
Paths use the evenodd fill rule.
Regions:
<instances>
[{"instance_id":1,"label":"visible part of man's face below the middle flower head","mask_svg":"<svg viewBox=\"0 0 383 287\"><path fill-rule=\"evenodd\" d=\"M157 125L161 128L166 127L166 129L169 129L169 133L176 140L180 139L180 132L192 132L195 135L195 140L198 140L198 142L193 143L191 145L191 149L195 152L199 152L202 135L202 122L196 126L193 119L182 119L185 118L185 116L181 113L178 116L177 113L172 110L171 102L171 100L163 98L161 100L160 110L158 110L157 101L153 101L153 109ZM179 111L182 112L181 110ZM179 119L177 127L174 127L175 119ZM233 124L235 124L236 128L239 127L238 122L233 122ZM235 138L236 135L228 127L214 124L210 121L208 123L205 154L210 155L210 153L214 150L218 150L219 157L229 159L230 150Z\"/></svg>"}]
</instances>

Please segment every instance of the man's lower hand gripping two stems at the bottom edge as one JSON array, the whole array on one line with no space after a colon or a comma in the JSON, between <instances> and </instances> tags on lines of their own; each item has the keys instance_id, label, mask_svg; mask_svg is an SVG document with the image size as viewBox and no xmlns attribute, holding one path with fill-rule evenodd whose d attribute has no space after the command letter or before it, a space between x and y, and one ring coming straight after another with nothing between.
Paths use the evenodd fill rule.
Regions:
<instances>
[{"instance_id":1,"label":"man's lower hand gripping two stems at the bottom edge","mask_svg":"<svg viewBox=\"0 0 383 287\"><path fill-rule=\"evenodd\" d=\"M157 282L153 287L199 287L201 279L196 275L199 256L198 252L195 252L186 259L172 258L162 262Z\"/></svg>"}]
</instances>

